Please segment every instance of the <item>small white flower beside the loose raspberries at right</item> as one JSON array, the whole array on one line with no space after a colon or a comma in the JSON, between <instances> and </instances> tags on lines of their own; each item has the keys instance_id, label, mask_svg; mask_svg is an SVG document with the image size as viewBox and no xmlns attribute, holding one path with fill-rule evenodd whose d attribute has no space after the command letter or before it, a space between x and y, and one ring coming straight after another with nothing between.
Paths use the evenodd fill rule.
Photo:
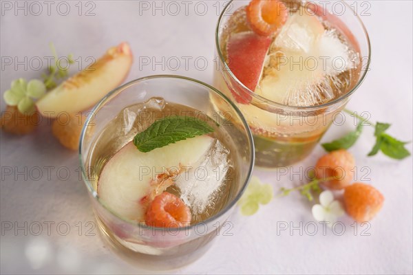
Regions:
<instances>
[{"instance_id":1,"label":"small white flower beside the loose raspberries at right","mask_svg":"<svg viewBox=\"0 0 413 275\"><path fill-rule=\"evenodd\" d=\"M328 222L328 227L337 221L338 217L343 216L344 210L339 201L335 201L331 191L323 191L319 197L320 204L315 204L311 209L316 221Z\"/></svg>"}]
</instances>

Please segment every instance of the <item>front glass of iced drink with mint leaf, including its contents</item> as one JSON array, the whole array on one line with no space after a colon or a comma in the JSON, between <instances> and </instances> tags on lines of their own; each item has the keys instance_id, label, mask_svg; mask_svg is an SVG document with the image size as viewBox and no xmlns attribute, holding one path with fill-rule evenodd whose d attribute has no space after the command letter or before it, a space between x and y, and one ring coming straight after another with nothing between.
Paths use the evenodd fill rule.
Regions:
<instances>
[{"instance_id":1,"label":"front glass of iced drink with mint leaf, including its contents","mask_svg":"<svg viewBox=\"0 0 413 275\"><path fill-rule=\"evenodd\" d=\"M242 114L220 91L190 78L151 76L94 107L80 157L110 247L142 267L169 269L197 259L231 226L254 149Z\"/></svg>"}]
</instances>

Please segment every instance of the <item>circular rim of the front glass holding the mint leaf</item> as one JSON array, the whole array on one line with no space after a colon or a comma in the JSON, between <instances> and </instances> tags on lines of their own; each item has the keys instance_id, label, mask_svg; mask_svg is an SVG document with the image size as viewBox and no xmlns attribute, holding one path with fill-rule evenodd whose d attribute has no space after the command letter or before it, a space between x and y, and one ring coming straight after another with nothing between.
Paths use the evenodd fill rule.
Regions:
<instances>
[{"instance_id":1,"label":"circular rim of the front glass holding the mint leaf","mask_svg":"<svg viewBox=\"0 0 413 275\"><path fill-rule=\"evenodd\" d=\"M176 78L176 79L180 79L180 80L185 80L185 81L188 81L189 83L196 83L196 84L201 85L203 87L207 87L210 91L213 91L215 94L218 94L218 96L223 98L227 103L229 103L231 105L231 107L235 110L235 113L237 113L237 115L240 117L242 125L244 126L244 128L246 130L247 139L250 142L249 147L250 147L251 154L250 154L250 158L248 159L248 161L249 161L248 172L247 172L247 175L246 175L246 179L242 183L242 187L241 187L240 191L238 192L238 194L229 203L227 203L226 206L222 210L220 210L220 212L213 215L212 217L209 217L208 219L206 219L204 221L201 221L199 223L195 223L193 225L188 225L188 226L184 226L184 227L180 227L180 228L160 228L160 227L156 227L156 226L141 224L139 222L134 223L129 219L125 219L123 217L120 217L120 215L118 215L116 212L114 212L109 207L107 207L105 205L105 203L103 201L101 201L100 198L98 197L98 193L96 192L96 190L94 190L91 182L89 181L89 179L87 177L87 171L85 170L85 162L83 162L83 157L82 157L83 156L83 154L82 154L83 140L84 140L84 137L85 137L86 129L88 129L89 122L92 120L92 118L94 116L94 113L99 111L99 109L101 107L103 107L105 105L105 103L112 98L112 96L116 96L119 92L127 89L128 87L131 87L131 86L135 85L136 83L141 83L142 81L145 81L145 80L153 80L153 79L158 79L158 78L165 78L165 79L166 78ZM104 96L92 108L91 111L89 111L89 114L87 115L87 118L85 120L85 124L83 124L83 128L82 128L82 131L81 131L81 138L79 140L79 146L78 146L78 157L79 157L79 160L81 162L82 179L83 179L83 182L85 183L85 185L87 187L88 192L92 195L92 197L94 199L96 199L96 201L100 204L100 206L103 206L103 208L105 208L105 210L107 210L110 214L114 215L116 218L124 221L125 223L128 223L129 225L136 226L138 228L144 228L144 229L150 229L150 230L167 230L168 232L178 232L178 231L182 231L182 230L191 230L191 229L195 228L195 226L197 226L198 224L201 224L201 223L210 223L212 221L215 221L216 219L219 219L220 217L222 217L222 215L224 213L228 212L231 208L233 208L233 206L235 206L235 203L237 203L237 201L240 200L242 194L246 190L246 186L248 185L248 182L251 179L252 172L253 172L253 167L254 167L254 163L255 163L255 148L254 148L254 142L253 142L253 135L251 133L251 129L249 129L249 127L248 127L248 124L247 124L247 122L244 118L244 115L242 115L242 112L240 111L240 109L238 109L238 107L231 100L229 100L229 98L227 98L224 94L222 94L221 91L219 91L218 89L215 89L214 87L212 87L211 85L209 85L207 83L204 83L200 80L196 80L194 78L189 78L189 77L186 77L186 76L178 76L178 75L159 74L159 75L144 76L144 77L141 77L141 78L136 78L135 80L131 80L128 83L125 83L123 85L120 85L119 87L116 87L112 91L109 91L109 93L106 96Z\"/></svg>"}]
</instances>

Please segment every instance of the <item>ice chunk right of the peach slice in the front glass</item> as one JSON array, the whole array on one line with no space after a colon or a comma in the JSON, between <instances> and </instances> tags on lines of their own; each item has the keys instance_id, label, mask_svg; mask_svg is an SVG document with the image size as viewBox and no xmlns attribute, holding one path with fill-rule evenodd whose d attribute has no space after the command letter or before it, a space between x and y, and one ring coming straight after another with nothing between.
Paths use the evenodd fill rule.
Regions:
<instances>
[{"instance_id":1,"label":"ice chunk right of the peach slice in the front glass","mask_svg":"<svg viewBox=\"0 0 413 275\"><path fill-rule=\"evenodd\" d=\"M215 140L204 158L176 179L180 197L190 206L193 215L203 214L221 199L220 191L229 169L228 155L229 150Z\"/></svg>"}]
</instances>

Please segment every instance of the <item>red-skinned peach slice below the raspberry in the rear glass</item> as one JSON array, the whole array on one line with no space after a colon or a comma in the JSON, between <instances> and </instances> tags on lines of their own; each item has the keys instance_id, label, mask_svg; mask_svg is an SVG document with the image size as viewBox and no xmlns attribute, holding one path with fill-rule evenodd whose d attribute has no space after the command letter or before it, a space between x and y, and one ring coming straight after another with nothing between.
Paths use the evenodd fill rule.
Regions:
<instances>
[{"instance_id":1,"label":"red-skinned peach slice below the raspberry in the rear glass","mask_svg":"<svg viewBox=\"0 0 413 275\"><path fill-rule=\"evenodd\" d=\"M231 34L229 37L227 52L228 66L235 77L240 80L245 87L255 91L268 48L271 45L271 38L259 36L254 32L240 32ZM248 104L251 96L247 91L240 88L237 83L229 85L235 100L242 104Z\"/></svg>"}]
</instances>

